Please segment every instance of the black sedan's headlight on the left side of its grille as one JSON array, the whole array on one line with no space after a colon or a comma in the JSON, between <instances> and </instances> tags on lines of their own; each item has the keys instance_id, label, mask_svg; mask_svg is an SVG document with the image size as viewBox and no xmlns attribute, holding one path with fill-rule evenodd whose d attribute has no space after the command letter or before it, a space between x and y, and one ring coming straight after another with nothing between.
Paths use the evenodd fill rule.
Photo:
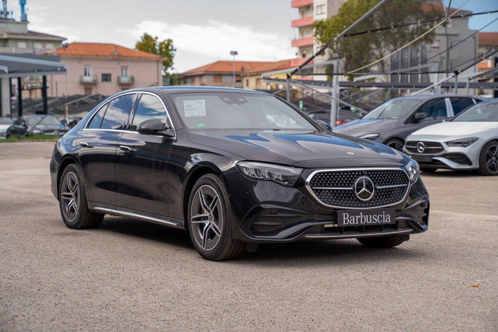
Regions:
<instances>
[{"instance_id":1,"label":"black sedan's headlight on the left side of its grille","mask_svg":"<svg viewBox=\"0 0 498 332\"><path fill-rule=\"evenodd\" d=\"M238 162L237 168L242 172L242 174L251 179L270 180L284 186L292 186L303 171L302 168L286 167L253 161Z\"/></svg>"}]
</instances>

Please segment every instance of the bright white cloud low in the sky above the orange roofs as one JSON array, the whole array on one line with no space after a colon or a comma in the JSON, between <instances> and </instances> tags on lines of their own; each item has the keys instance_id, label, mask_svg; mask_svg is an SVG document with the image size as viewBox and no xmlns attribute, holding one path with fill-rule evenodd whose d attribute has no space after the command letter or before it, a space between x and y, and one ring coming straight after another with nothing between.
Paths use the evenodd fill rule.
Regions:
<instances>
[{"instance_id":1,"label":"bright white cloud low in the sky above the orange roofs","mask_svg":"<svg viewBox=\"0 0 498 332\"><path fill-rule=\"evenodd\" d=\"M234 26L224 22L209 20L206 23L168 24L158 20L144 20L131 29L118 29L138 39L144 32L158 36L159 39L171 38L177 49L176 68L180 71L192 69L206 62L185 63L181 54L196 54L204 59L231 59L230 51L237 50L237 60L275 61L295 57L295 49L290 39L269 31L256 31L247 26ZM189 56L189 62L192 57ZM185 59L187 60L187 59Z\"/></svg>"}]
</instances>

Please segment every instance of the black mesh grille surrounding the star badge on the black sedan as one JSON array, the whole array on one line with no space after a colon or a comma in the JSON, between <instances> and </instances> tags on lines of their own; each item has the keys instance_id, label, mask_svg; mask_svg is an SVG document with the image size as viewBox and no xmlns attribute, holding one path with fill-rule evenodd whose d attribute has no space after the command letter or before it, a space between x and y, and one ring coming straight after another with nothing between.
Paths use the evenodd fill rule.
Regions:
<instances>
[{"instance_id":1,"label":"black mesh grille surrounding the star badge on the black sedan","mask_svg":"<svg viewBox=\"0 0 498 332\"><path fill-rule=\"evenodd\" d=\"M375 186L369 201L357 198L353 188L356 179L367 176ZM315 173L308 189L321 203L337 208L372 208L400 202L408 190L409 179L401 169L326 170Z\"/></svg>"}]
</instances>

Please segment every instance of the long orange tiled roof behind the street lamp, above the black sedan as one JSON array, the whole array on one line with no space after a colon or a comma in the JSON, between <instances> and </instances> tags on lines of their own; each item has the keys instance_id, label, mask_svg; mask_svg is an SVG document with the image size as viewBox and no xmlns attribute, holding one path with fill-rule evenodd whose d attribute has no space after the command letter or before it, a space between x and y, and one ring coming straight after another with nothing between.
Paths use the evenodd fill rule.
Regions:
<instances>
[{"instance_id":1,"label":"long orange tiled roof behind the street lamp, above the black sedan","mask_svg":"<svg viewBox=\"0 0 498 332\"><path fill-rule=\"evenodd\" d=\"M269 61L236 61L235 62L235 72L241 73L242 68L244 68L244 72L247 71L247 67L249 67L249 73L264 73L279 69L291 68L289 60L281 60L276 62ZM182 74L182 76L191 76L191 75L199 75L204 73L232 73L234 70L234 62L233 61L216 61L202 67L198 67L192 70L189 70Z\"/></svg>"}]
</instances>

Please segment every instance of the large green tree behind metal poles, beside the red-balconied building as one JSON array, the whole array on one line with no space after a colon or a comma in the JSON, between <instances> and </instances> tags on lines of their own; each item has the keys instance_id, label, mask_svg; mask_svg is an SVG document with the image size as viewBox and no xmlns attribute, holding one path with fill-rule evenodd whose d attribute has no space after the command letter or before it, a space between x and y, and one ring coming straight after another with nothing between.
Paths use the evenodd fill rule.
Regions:
<instances>
[{"instance_id":1,"label":"large green tree behind metal poles, beside the red-balconied building","mask_svg":"<svg viewBox=\"0 0 498 332\"><path fill-rule=\"evenodd\" d=\"M339 8L336 16L313 23L315 38L326 45L345 28L370 10L379 0L348 0ZM443 16L442 9L432 4L422 5L423 0L390 0L377 8L369 17L350 33L368 31L385 26L434 19ZM430 7L432 6L432 7ZM437 22L436 22L437 23ZM420 34L427 31L435 22L411 25L380 32L340 38L331 48L339 59L344 59L345 70L351 71L369 64L389 54ZM412 45L431 43L434 31L419 39ZM379 63L381 71L385 70L385 61ZM372 70L367 68L366 70Z\"/></svg>"}]
</instances>

